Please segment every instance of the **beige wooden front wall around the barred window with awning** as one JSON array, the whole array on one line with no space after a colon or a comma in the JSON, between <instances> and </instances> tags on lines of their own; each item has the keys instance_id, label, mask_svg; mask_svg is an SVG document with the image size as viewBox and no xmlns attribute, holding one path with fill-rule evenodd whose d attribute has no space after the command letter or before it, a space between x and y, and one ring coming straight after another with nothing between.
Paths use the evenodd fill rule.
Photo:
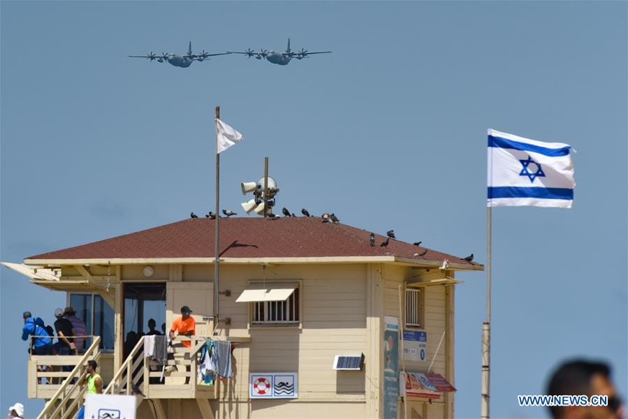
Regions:
<instances>
[{"instance_id":1,"label":"beige wooden front wall around the barred window with awning","mask_svg":"<svg viewBox=\"0 0 628 419\"><path fill-rule=\"evenodd\" d=\"M235 302L249 281L300 281L300 327L252 327L249 304ZM213 281L211 265L183 267L183 281ZM231 296L220 296L221 316L231 317L231 326L221 335L250 336L251 342L236 346L233 362L235 379L227 381L221 397L245 402L242 406L227 404L227 417L235 409L256 405L291 404L287 400L246 402L249 396L249 372L298 372L300 402L332 399L365 400L364 372L337 372L333 359L339 354L367 353L366 335L366 267L365 265L224 266L221 267L220 290ZM193 309L193 307L192 307ZM363 416L360 408L360 416ZM269 413L272 414L276 413Z\"/></svg>"}]
</instances>

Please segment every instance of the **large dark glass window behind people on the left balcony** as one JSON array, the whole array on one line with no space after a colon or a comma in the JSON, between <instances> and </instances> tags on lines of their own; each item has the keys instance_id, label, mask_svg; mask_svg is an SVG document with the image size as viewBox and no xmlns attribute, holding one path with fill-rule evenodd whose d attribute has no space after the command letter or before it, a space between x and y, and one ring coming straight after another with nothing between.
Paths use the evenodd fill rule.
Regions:
<instances>
[{"instance_id":1,"label":"large dark glass window behind people on the left balcony","mask_svg":"<svg viewBox=\"0 0 628 419\"><path fill-rule=\"evenodd\" d=\"M98 293L69 293L68 305L76 310L76 316L85 322L87 335L101 337L100 348L112 351L114 346L114 311ZM92 339L85 339L85 350L92 344Z\"/></svg>"}]
</instances>

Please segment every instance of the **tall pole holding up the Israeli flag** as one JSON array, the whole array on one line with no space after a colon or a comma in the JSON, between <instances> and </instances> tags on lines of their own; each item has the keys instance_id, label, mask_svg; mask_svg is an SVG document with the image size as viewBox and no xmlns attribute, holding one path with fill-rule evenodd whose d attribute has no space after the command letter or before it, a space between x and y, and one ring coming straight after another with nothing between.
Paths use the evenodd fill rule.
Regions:
<instances>
[{"instance_id":1,"label":"tall pole holding up the Israeli flag","mask_svg":"<svg viewBox=\"0 0 628 419\"><path fill-rule=\"evenodd\" d=\"M491 162L492 165L492 162ZM492 203L490 203L492 205ZM486 321L482 323L482 406L481 418L490 415L490 240L492 227L492 207L486 207Z\"/></svg>"}]
</instances>

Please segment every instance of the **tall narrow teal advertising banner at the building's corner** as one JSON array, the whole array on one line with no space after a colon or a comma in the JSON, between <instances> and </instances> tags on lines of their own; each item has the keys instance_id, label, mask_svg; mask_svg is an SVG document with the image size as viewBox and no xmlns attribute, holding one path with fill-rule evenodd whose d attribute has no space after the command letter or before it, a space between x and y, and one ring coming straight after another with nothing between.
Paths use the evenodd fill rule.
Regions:
<instances>
[{"instance_id":1,"label":"tall narrow teal advertising banner at the building's corner","mask_svg":"<svg viewBox=\"0 0 628 419\"><path fill-rule=\"evenodd\" d=\"M384 316L384 418L397 419L399 400L399 319Z\"/></svg>"}]
</instances>

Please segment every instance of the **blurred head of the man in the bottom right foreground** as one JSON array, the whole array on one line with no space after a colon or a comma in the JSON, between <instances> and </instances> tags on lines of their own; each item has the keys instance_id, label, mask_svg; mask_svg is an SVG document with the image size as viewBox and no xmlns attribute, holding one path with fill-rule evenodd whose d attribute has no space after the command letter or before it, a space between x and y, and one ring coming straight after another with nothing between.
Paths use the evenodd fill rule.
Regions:
<instances>
[{"instance_id":1,"label":"blurred head of the man in the bottom right foreground","mask_svg":"<svg viewBox=\"0 0 628 419\"><path fill-rule=\"evenodd\" d=\"M551 406L553 418L622 418L623 406L611 382L611 368L604 362L571 360L564 362L551 376L548 395L602 395L608 406Z\"/></svg>"}]
</instances>

